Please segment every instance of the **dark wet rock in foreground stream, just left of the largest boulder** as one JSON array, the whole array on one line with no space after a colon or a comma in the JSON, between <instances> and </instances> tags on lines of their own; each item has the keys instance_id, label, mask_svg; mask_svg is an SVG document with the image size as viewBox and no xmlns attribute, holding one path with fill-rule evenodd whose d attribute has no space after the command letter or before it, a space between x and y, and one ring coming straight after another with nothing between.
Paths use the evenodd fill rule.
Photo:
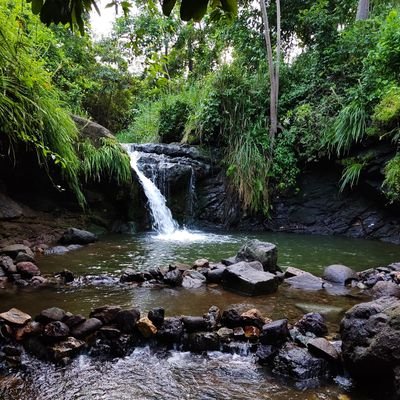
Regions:
<instances>
[{"instance_id":1,"label":"dark wet rock in foreground stream, just left of the largest boulder","mask_svg":"<svg viewBox=\"0 0 400 400\"><path fill-rule=\"evenodd\" d=\"M304 347L286 343L273 361L272 372L295 380L310 380L329 376L328 361L313 356Z\"/></svg>"}]
</instances>

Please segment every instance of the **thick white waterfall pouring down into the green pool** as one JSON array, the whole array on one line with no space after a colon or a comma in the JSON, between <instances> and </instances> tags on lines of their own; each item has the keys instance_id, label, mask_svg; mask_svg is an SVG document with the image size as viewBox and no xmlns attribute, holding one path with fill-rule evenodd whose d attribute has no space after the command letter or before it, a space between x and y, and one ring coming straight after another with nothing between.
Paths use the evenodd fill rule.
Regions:
<instances>
[{"instance_id":1,"label":"thick white waterfall pouring down into the green pool","mask_svg":"<svg viewBox=\"0 0 400 400\"><path fill-rule=\"evenodd\" d=\"M140 153L137 151L129 152L131 167L139 177L143 186L144 193L149 201L150 213L153 219L153 229L161 234L174 233L178 228L178 223L172 218L171 210L167 207L166 199L157 186L147 178L138 167Z\"/></svg>"}]
</instances>

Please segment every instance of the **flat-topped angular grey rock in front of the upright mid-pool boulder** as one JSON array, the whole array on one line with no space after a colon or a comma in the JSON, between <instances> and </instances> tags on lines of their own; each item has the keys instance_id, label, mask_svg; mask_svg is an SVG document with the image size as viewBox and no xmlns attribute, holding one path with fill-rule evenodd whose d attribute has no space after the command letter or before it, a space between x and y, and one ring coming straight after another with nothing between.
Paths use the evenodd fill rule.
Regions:
<instances>
[{"instance_id":1,"label":"flat-topped angular grey rock in front of the upright mid-pool boulder","mask_svg":"<svg viewBox=\"0 0 400 400\"><path fill-rule=\"evenodd\" d=\"M257 271L244 261L227 267L222 275L224 289L249 296L276 292L278 284L275 275Z\"/></svg>"}]
</instances>

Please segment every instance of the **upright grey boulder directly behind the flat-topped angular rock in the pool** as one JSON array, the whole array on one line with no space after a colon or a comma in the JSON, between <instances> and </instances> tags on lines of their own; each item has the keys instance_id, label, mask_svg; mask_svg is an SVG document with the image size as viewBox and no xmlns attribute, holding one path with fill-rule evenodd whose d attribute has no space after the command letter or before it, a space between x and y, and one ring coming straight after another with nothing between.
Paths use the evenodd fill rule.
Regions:
<instances>
[{"instance_id":1,"label":"upright grey boulder directly behind the flat-topped angular rock in the pool","mask_svg":"<svg viewBox=\"0 0 400 400\"><path fill-rule=\"evenodd\" d=\"M278 270L278 249L272 243L250 240L239 250L236 260L259 261L264 271L275 272Z\"/></svg>"}]
</instances>

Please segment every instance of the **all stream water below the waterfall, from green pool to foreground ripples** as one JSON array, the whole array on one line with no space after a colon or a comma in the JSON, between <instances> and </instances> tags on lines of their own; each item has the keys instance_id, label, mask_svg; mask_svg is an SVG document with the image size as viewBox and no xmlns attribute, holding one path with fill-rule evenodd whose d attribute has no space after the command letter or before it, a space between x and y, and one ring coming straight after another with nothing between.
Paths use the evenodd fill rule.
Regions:
<instances>
[{"instance_id":1,"label":"all stream water below the waterfall, from green pool to foreground ripples","mask_svg":"<svg viewBox=\"0 0 400 400\"><path fill-rule=\"evenodd\" d=\"M257 238L278 246L278 263L321 275L325 266L345 264L356 270L400 260L400 246L341 237L296 234L215 234L181 232L174 238L152 233L104 236L98 243L65 255L42 256L43 273L67 268L77 276L96 276L90 284L53 288L3 289L0 312L18 307L32 315L49 306L88 315L96 306L118 304L147 311L162 306L167 315L202 315L211 305L221 309L237 306L243 311L258 308L273 319L295 322L301 315L318 311L325 315L335 334L346 309L362 301L360 293L338 295L325 289L304 292L281 285L278 292L243 297L218 285L199 289L146 288L118 282L126 267L143 270L198 258L220 261L235 255L247 239ZM27 372L0 376L0 398L5 399L340 399L365 400L355 389L326 384L315 389L296 388L277 380L254 363L251 356L209 353L154 354L137 349L120 360L100 362L81 356L67 367L27 360Z\"/></svg>"}]
</instances>

